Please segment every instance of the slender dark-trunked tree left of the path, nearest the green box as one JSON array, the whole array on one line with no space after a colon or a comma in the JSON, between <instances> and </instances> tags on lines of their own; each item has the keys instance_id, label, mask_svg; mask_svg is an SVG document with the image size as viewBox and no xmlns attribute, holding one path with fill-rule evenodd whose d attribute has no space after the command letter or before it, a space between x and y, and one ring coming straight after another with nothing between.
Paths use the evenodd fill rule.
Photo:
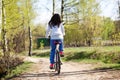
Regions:
<instances>
[{"instance_id":1,"label":"slender dark-trunked tree left of the path, nearest the green box","mask_svg":"<svg viewBox=\"0 0 120 80\"><path fill-rule=\"evenodd\" d=\"M19 8L21 9L21 14L23 16L23 20L24 20L24 28L26 29L26 32L28 30L28 38L26 38L26 40L28 39L28 41L26 42L29 42L29 46L28 46L28 49L29 49L29 52L28 52L28 55L31 56L32 55L32 22L31 20L35 17L35 14L34 14L34 10L33 10L33 7L32 7L32 0L25 0L25 3L23 0L20 0L19 1L20 5L19 5Z\"/></svg>"}]
</instances>

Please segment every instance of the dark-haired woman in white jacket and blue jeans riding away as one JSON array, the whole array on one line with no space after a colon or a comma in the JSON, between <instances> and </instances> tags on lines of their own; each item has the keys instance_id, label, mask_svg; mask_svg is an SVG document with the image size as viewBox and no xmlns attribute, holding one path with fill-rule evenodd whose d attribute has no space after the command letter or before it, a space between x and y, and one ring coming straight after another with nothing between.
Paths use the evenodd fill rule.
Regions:
<instances>
[{"instance_id":1,"label":"dark-haired woman in white jacket and blue jeans riding away","mask_svg":"<svg viewBox=\"0 0 120 80\"><path fill-rule=\"evenodd\" d=\"M64 57L63 55L63 38L65 35L64 26L62 24L61 18L59 14L54 14L51 18L51 20L48 23L47 31L46 31L46 37L48 38L50 36L50 46L51 46L51 52L50 52L50 69L53 69L54 66L54 57L55 57L55 41L60 42L59 51L60 56Z\"/></svg>"}]
</instances>

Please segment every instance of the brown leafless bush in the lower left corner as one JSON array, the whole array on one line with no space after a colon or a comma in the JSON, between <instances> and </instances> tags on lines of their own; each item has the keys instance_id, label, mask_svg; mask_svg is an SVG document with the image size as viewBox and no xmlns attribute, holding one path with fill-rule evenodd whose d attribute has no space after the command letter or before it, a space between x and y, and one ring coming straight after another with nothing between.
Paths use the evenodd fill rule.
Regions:
<instances>
[{"instance_id":1,"label":"brown leafless bush in the lower left corner","mask_svg":"<svg viewBox=\"0 0 120 80\"><path fill-rule=\"evenodd\" d=\"M0 57L0 77L3 77L11 68L23 63L23 58L17 56Z\"/></svg>"}]
</instances>

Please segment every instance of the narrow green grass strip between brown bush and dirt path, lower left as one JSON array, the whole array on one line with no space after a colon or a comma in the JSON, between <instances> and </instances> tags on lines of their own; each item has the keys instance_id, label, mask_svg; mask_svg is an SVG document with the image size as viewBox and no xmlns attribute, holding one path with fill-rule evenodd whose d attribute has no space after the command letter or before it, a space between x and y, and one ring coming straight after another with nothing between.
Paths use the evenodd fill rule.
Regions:
<instances>
[{"instance_id":1,"label":"narrow green grass strip between brown bush and dirt path, lower left","mask_svg":"<svg viewBox=\"0 0 120 80\"><path fill-rule=\"evenodd\" d=\"M13 68L11 70L11 72L9 72L5 76L5 79L9 79L9 78L12 78L14 76L18 76L19 74L28 71L31 65L32 65L32 62L24 62L23 64Z\"/></svg>"}]
</instances>

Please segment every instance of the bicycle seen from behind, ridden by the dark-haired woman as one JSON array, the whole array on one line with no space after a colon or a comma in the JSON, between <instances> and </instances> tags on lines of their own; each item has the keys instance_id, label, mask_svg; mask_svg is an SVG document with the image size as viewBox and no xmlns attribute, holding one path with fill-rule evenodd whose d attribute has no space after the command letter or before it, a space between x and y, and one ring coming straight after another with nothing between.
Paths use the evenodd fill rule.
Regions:
<instances>
[{"instance_id":1,"label":"bicycle seen from behind, ridden by the dark-haired woman","mask_svg":"<svg viewBox=\"0 0 120 80\"><path fill-rule=\"evenodd\" d=\"M55 50L55 63L54 63L54 69L57 71L57 74L60 74L61 70L61 60L60 60L60 54L59 54L59 41L54 42L56 45L56 50Z\"/></svg>"}]
</instances>

